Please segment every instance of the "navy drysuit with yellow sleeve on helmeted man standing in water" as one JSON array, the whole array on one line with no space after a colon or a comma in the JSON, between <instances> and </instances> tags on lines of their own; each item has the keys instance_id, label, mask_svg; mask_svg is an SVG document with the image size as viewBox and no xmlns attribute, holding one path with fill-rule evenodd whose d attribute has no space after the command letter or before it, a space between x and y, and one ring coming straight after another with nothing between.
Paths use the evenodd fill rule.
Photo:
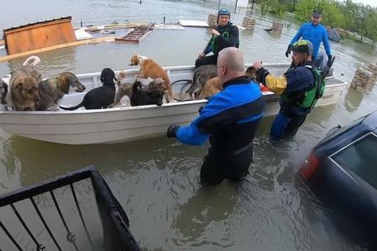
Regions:
<instances>
[{"instance_id":1,"label":"navy drysuit with yellow sleeve on helmeted man standing in water","mask_svg":"<svg viewBox=\"0 0 377 251\"><path fill-rule=\"evenodd\" d=\"M273 140L290 139L296 135L311 108L303 108L297 102L305 97L305 93L314 88L314 75L311 71L312 62L288 69L282 76L273 77L268 70L257 70L257 81L272 92L281 95L280 110L270 130Z\"/></svg>"}]
</instances>

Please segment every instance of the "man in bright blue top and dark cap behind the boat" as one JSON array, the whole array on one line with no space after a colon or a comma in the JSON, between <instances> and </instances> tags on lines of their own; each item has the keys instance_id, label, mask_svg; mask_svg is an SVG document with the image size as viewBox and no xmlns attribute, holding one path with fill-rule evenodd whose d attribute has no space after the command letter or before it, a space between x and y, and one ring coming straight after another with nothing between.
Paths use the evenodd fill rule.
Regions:
<instances>
[{"instance_id":1,"label":"man in bright blue top and dark cap behind the boat","mask_svg":"<svg viewBox=\"0 0 377 251\"><path fill-rule=\"evenodd\" d=\"M329 65L331 62L331 59L333 56L331 55L331 49L330 44L328 40L327 30L326 28L320 24L320 21L322 20L322 13L320 11L314 11L311 16L311 22L310 23L304 23L297 34L293 37L291 43L288 45L288 49L285 52L285 56L290 55L292 45L293 43L299 41L299 39L302 37L303 40L309 40L313 44L313 58L312 61L314 62L317 58L319 46L321 45L321 42L323 43L323 46L325 47L325 51L328 57L327 64Z\"/></svg>"}]
</instances>

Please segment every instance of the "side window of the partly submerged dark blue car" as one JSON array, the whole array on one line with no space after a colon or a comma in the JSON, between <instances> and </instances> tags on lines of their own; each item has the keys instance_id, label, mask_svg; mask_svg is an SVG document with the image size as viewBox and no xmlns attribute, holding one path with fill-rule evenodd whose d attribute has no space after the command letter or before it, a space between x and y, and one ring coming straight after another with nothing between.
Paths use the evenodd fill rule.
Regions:
<instances>
[{"instance_id":1,"label":"side window of the partly submerged dark blue car","mask_svg":"<svg viewBox=\"0 0 377 251\"><path fill-rule=\"evenodd\" d=\"M377 188L377 137L368 134L337 152L331 158L345 170L352 170L360 178Z\"/></svg>"}]
</instances>

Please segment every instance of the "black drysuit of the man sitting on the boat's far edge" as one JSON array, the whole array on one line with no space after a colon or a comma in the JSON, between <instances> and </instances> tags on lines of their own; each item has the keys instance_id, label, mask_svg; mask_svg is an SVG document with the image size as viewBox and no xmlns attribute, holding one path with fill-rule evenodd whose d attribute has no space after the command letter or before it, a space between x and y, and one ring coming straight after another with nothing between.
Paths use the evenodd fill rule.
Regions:
<instances>
[{"instance_id":1,"label":"black drysuit of the man sitting on the boat's far edge","mask_svg":"<svg viewBox=\"0 0 377 251\"><path fill-rule=\"evenodd\" d=\"M225 26L219 25L215 30L220 33L220 36L213 35L203 50L205 55L210 52L213 52L213 55L196 59L195 68L201 65L217 64L217 57L222 49L226 47L239 47L239 30L233 23L229 22Z\"/></svg>"}]
</instances>

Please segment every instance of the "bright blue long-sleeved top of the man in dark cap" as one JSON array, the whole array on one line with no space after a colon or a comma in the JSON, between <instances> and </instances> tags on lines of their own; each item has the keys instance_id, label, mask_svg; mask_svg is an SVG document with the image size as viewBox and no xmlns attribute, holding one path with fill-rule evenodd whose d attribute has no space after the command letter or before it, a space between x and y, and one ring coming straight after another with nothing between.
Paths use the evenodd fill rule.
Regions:
<instances>
[{"instance_id":1,"label":"bright blue long-sleeved top of the man in dark cap","mask_svg":"<svg viewBox=\"0 0 377 251\"><path fill-rule=\"evenodd\" d=\"M314 25L313 22L304 23L296 36L293 37L290 45L293 45L294 42L297 42L300 37L305 40L309 40L313 44L313 57L317 58L319 46L323 42L327 56L331 55L330 44L328 40L327 30L322 24Z\"/></svg>"}]
</instances>

